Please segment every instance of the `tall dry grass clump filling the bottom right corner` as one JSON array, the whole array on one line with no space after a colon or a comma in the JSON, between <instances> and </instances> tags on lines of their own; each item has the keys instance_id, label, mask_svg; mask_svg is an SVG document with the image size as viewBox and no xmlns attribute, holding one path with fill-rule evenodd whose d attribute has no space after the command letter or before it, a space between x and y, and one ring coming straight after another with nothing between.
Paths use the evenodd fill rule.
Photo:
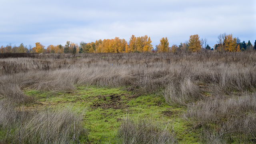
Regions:
<instances>
[{"instance_id":1,"label":"tall dry grass clump filling the bottom right corner","mask_svg":"<svg viewBox=\"0 0 256 144\"><path fill-rule=\"evenodd\" d=\"M256 93L242 93L229 99L210 98L188 105L185 113L196 128L215 129L216 137L230 141L236 136L238 142L254 141L256 138ZM210 139L205 135L204 139Z\"/></svg>"}]
</instances>

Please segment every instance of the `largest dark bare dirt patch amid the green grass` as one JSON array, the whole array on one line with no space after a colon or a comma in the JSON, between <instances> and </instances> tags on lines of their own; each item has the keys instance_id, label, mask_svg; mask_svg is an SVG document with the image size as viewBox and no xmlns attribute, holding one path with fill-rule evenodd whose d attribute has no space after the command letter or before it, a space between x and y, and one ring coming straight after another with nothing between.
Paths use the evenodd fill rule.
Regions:
<instances>
[{"instance_id":1,"label":"largest dark bare dirt patch amid the green grass","mask_svg":"<svg viewBox=\"0 0 256 144\"><path fill-rule=\"evenodd\" d=\"M125 101L121 99L124 94L111 94L111 95L98 95L94 102L92 102L91 108L113 108L113 109L124 109L129 107Z\"/></svg>"}]
</instances>

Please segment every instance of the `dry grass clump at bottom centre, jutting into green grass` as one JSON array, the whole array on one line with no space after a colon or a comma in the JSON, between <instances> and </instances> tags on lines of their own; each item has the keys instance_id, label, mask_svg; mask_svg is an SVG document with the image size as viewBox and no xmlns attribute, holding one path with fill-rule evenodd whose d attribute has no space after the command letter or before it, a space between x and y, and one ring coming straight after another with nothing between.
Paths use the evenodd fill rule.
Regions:
<instances>
[{"instance_id":1,"label":"dry grass clump at bottom centre, jutting into green grass","mask_svg":"<svg viewBox=\"0 0 256 144\"><path fill-rule=\"evenodd\" d=\"M118 144L177 144L174 134L167 128L150 121L138 120L135 122L126 118L117 134Z\"/></svg>"}]
</instances>

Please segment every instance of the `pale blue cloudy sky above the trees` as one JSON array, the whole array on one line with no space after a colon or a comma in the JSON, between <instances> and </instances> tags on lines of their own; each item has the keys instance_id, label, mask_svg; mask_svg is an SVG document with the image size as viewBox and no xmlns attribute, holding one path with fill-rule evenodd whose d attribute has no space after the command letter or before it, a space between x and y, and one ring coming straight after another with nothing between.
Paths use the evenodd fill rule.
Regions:
<instances>
[{"instance_id":1,"label":"pale blue cloudy sky above the trees","mask_svg":"<svg viewBox=\"0 0 256 144\"><path fill-rule=\"evenodd\" d=\"M170 46L198 34L256 40L256 0L0 0L0 46L65 45L132 35Z\"/></svg>"}]
</instances>

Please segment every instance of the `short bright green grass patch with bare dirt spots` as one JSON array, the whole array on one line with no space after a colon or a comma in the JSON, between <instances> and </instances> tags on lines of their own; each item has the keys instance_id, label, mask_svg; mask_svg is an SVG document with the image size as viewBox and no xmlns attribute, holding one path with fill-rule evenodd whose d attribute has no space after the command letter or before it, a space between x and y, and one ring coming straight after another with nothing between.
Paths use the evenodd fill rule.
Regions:
<instances>
[{"instance_id":1,"label":"short bright green grass patch with bare dirt spots","mask_svg":"<svg viewBox=\"0 0 256 144\"><path fill-rule=\"evenodd\" d=\"M114 143L122 120L148 119L162 123L174 130L180 143L196 143L199 136L182 118L185 107L167 105L159 95L137 96L121 88L77 87L71 92L24 90L35 97L37 103L31 107L70 107L84 117L89 130L89 143Z\"/></svg>"}]
</instances>

